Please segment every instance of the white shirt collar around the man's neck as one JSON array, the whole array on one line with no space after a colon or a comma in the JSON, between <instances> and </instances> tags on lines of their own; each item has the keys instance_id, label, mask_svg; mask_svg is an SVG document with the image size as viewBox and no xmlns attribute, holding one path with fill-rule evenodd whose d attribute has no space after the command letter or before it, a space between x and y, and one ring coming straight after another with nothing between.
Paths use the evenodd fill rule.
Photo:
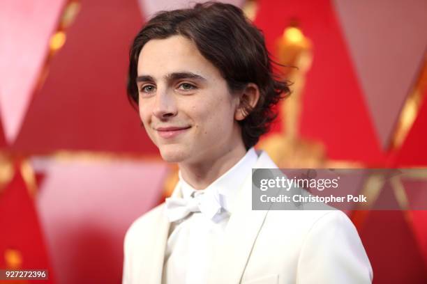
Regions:
<instances>
[{"instance_id":1,"label":"white shirt collar around the man's neck","mask_svg":"<svg viewBox=\"0 0 427 284\"><path fill-rule=\"evenodd\" d=\"M255 149L250 148L244 157L234 164L227 172L209 184L206 189L194 189L183 180L181 171L179 171L179 183L183 198L190 198L194 191L205 193L210 191L211 194L218 196L220 205L227 210L227 212L232 213L237 191L239 191L241 184L244 182L244 178L252 172L252 168L255 166L257 159L258 156Z\"/></svg>"}]
</instances>

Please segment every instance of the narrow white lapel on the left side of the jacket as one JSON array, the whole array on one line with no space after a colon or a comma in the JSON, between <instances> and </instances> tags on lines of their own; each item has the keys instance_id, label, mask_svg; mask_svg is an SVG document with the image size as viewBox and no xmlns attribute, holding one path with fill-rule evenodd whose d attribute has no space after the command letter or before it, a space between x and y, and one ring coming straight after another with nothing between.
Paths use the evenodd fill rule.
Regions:
<instances>
[{"instance_id":1,"label":"narrow white lapel on the left side of the jacket","mask_svg":"<svg viewBox=\"0 0 427 284\"><path fill-rule=\"evenodd\" d=\"M172 192L172 196L181 197L179 183ZM165 206L161 207L158 223L153 225L155 232L147 232L150 235L149 242L144 244L144 252L147 255L143 261L138 283L161 284L163 274L163 264L165 262L165 252L167 238L169 237L170 222L165 213Z\"/></svg>"}]
</instances>

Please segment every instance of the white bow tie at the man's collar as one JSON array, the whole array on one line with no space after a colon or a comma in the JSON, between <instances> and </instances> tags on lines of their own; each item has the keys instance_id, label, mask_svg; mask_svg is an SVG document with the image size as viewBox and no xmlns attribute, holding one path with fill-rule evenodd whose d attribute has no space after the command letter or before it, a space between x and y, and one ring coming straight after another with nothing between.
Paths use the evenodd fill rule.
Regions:
<instances>
[{"instance_id":1,"label":"white bow tie at the man's collar","mask_svg":"<svg viewBox=\"0 0 427 284\"><path fill-rule=\"evenodd\" d=\"M212 191L195 192L195 197L166 198L166 214L170 222L185 218L191 212L201 212L208 219L213 219L221 212L220 195Z\"/></svg>"}]
</instances>

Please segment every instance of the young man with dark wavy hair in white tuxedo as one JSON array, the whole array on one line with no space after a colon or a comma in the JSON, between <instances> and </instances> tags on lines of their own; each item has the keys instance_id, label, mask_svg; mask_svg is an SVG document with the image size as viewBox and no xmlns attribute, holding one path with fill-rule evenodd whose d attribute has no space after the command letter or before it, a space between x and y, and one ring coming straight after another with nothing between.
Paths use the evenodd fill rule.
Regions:
<instances>
[{"instance_id":1,"label":"young man with dark wavy hair in white tuxedo","mask_svg":"<svg viewBox=\"0 0 427 284\"><path fill-rule=\"evenodd\" d=\"M370 283L343 212L251 210L251 169L277 168L253 146L288 92L237 7L197 4L147 22L128 95L179 183L128 229L123 283Z\"/></svg>"}]
</instances>

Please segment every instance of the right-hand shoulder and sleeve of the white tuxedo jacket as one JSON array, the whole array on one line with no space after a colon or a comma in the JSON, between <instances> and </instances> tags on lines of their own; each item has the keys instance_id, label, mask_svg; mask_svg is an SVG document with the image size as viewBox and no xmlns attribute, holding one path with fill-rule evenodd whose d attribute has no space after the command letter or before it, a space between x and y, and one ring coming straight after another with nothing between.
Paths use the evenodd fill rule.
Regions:
<instances>
[{"instance_id":1,"label":"right-hand shoulder and sleeve of the white tuxedo jacket","mask_svg":"<svg viewBox=\"0 0 427 284\"><path fill-rule=\"evenodd\" d=\"M368 255L346 214L334 210L316 219L301 247L297 279L301 283L371 283Z\"/></svg>"}]
</instances>

